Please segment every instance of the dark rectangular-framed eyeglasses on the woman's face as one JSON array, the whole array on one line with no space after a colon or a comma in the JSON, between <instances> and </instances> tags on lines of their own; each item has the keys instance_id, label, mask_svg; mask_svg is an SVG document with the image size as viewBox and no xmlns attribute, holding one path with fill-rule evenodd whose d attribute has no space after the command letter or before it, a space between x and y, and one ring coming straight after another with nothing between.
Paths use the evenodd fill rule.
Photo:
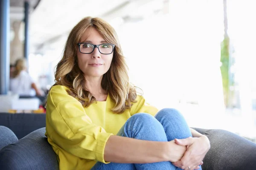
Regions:
<instances>
[{"instance_id":1,"label":"dark rectangular-framed eyeglasses on the woman's face","mask_svg":"<svg viewBox=\"0 0 256 170\"><path fill-rule=\"evenodd\" d=\"M79 47L80 53L83 53L83 54L91 54L95 48L98 48L101 54L111 54L115 47L114 44L110 44L110 43L94 45L87 42L82 42L82 43L78 43L77 45Z\"/></svg>"}]
</instances>

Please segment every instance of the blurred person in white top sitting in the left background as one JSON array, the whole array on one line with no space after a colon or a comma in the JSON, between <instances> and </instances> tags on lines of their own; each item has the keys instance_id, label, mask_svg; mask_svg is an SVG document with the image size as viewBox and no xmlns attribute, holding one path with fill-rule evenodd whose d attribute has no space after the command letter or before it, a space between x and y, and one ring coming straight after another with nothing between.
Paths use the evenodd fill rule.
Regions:
<instances>
[{"instance_id":1,"label":"blurred person in white top sitting in the left background","mask_svg":"<svg viewBox=\"0 0 256 170\"><path fill-rule=\"evenodd\" d=\"M32 77L26 72L26 59L17 59L10 78L10 91L20 96L43 96Z\"/></svg>"}]
</instances>

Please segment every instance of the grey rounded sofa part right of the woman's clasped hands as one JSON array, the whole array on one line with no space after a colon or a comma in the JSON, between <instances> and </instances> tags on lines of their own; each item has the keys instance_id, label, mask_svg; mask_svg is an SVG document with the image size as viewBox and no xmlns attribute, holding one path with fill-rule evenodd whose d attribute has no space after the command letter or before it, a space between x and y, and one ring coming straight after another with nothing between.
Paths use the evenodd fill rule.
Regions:
<instances>
[{"instance_id":1,"label":"grey rounded sofa part right of the woman's clasped hands","mask_svg":"<svg viewBox=\"0 0 256 170\"><path fill-rule=\"evenodd\" d=\"M203 170L253 170L256 168L256 143L220 129L193 128L208 137L211 148Z\"/></svg>"}]
</instances>

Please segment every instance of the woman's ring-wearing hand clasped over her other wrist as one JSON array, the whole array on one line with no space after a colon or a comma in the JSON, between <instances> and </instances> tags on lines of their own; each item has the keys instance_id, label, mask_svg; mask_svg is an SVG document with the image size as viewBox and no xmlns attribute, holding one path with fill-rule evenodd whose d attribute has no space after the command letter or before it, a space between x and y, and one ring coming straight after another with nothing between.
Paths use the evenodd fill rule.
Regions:
<instances>
[{"instance_id":1,"label":"woman's ring-wearing hand clasped over her other wrist","mask_svg":"<svg viewBox=\"0 0 256 170\"><path fill-rule=\"evenodd\" d=\"M199 165L203 164L202 160L210 149L209 139L205 135L195 138L175 139L175 143L180 146L187 146L183 157L172 163L176 167L185 170L189 170L189 168L190 170L199 169Z\"/></svg>"}]
</instances>

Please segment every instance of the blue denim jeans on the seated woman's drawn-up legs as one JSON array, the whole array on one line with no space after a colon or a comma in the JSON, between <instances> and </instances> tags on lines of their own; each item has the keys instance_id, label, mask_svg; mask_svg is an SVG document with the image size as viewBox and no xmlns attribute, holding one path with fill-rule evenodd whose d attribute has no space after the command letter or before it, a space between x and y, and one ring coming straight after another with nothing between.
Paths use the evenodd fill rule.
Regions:
<instances>
[{"instance_id":1,"label":"blue denim jeans on the seated woman's drawn-up legs","mask_svg":"<svg viewBox=\"0 0 256 170\"><path fill-rule=\"evenodd\" d=\"M134 139L150 141L172 141L192 136L190 129L179 111L165 108L154 117L148 113L137 113L131 116L117 133ZM121 164L97 162L91 170L181 170L170 161L148 164ZM200 169L201 170L201 166Z\"/></svg>"}]
</instances>

